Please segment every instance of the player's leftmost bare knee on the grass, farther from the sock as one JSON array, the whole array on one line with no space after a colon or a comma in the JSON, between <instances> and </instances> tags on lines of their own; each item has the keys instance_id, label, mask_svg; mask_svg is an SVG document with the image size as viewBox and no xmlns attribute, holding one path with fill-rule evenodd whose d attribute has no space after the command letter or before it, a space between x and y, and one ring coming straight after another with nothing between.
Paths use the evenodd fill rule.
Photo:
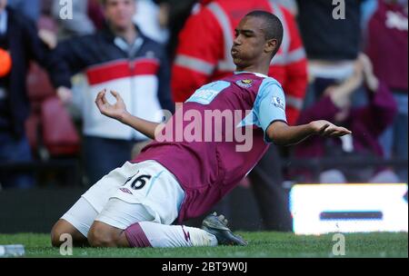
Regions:
<instances>
[{"instance_id":1,"label":"player's leftmost bare knee on the grass, farther from the sock","mask_svg":"<svg viewBox=\"0 0 409 276\"><path fill-rule=\"evenodd\" d=\"M59 247L63 242L65 242L64 235L68 234L73 239L74 245L85 245L86 237L75 229L75 227L65 220L58 220L55 222L53 229L51 230L51 244L54 247ZM63 236L63 238L61 238Z\"/></svg>"}]
</instances>

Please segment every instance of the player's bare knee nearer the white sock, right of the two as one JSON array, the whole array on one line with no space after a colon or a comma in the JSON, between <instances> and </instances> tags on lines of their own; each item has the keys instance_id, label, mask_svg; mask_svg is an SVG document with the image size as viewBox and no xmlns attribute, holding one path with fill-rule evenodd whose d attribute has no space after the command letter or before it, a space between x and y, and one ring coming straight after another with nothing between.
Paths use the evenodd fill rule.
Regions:
<instances>
[{"instance_id":1,"label":"player's bare knee nearer the white sock, right of the two","mask_svg":"<svg viewBox=\"0 0 409 276\"><path fill-rule=\"evenodd\" d=\"M125 232L104 222L94 222L88 242L92 247L128 247Z\"/></svg>"}]
</instances>

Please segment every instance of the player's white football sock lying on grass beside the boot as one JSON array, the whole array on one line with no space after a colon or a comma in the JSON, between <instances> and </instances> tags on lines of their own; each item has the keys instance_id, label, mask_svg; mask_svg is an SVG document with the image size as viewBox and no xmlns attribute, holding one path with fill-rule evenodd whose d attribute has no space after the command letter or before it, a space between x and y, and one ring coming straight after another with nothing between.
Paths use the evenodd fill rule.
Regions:
<instances>
[{"instance_id":1,"label":"player's white football sock lying on grass beside the boot","mask_svg":"<svg viewBox=\"0 0 409 276\"><path fill-rule=\"evenodd\" d=\"M139 222L152 247L217 246L216 237L200 228Z\"/></svg>"}]
</instances>

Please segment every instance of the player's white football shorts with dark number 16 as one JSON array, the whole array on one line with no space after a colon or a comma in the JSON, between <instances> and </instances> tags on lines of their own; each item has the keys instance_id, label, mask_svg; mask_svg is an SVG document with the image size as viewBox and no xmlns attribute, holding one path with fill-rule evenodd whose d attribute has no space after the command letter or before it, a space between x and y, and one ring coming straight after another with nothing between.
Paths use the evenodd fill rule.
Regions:
<instances>
[{"instance_id":1,"label":"player's white football shorts with dark number 16","mask_svg":"<svg viewBox=\"0 0 409 276\"><path fill-rule=\"evenodd\" d=\"M96 182L62 217L85 237L93 222L126 229L136 222L175 222L185 192L155 161L125 163Z\"/></svg>"}]
</instances>

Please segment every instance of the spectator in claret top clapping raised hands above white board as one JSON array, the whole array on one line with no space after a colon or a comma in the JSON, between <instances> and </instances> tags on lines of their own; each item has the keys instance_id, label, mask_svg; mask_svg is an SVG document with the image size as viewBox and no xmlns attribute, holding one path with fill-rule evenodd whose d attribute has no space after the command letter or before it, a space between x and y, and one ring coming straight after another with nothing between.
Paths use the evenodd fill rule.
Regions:
<instances>
[{"instance_id":1,"label":"spectator in claret top clapping raised hands above white board","mask_svg":"<svg viewBox=\"0 0 409 276\"><path fill-rule=\"evenodd\" d=\"M352 108L352 94L363 81L367 87L369 104ZM298 121L298 123L304 123L314 118L324 118L348 127L353 132L352 136L342 140L330 139L328 142L325 142L322 137L313 137L305 141L303 146L297 146L295 155L302 158L323 156L343 158L348 153L353 153L366 157L382 157L384 153L378 143L378 137L393 122L395 113L396 103L392 93L374 76L369 58L361 54L355 63L354 75L342 84L330 85L314 105L301 113ZM364 167L356 170L350 168L338 170L338 173L332 174L342 175L342 177L336 177L337 180L334 178L324 180L324 175L329 175L324 173L321 175L321 182L368 182L376 173L380 173L379 169L368 173ZM311 175L304 174L304 177L300 181L318 181L311 179Z\"/></svg>"}]
</instances>

